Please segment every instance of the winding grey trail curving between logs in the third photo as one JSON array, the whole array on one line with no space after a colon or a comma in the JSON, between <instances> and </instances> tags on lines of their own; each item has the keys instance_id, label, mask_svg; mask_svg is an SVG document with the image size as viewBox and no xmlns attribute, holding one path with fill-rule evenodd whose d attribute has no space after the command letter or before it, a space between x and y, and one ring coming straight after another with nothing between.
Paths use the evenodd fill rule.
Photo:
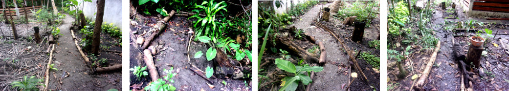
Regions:
<instances>
[{"instance_id":1,"label":"winding grey trail curving between logs in the third photo","mask_svg":"<svg viewBox=\"0 0 509 91\"><path fill-rule=\"evenodd\" d=\"M323 66L323 71L315 73L313 84L311 85L312 90L345 90L341 88L341 85L344 83L348 85L350 80L349 74L345 75L344 73L350 73L350 67L348 66L345 68L334 64L339 63L346 65L349 61L348 56L341 50L343 48L340 47L340 44L329 32L311 25L313 19L319 14L320 9L331 4L332 3L316 5L305 15L301 16L300 19L295 21L294 24L290 25L295 26L297 29L303 29L309 36L315 37L317 42L321 41L324 43L325 51L327 52L327 63Z\"/></svg>"}]
</instances>

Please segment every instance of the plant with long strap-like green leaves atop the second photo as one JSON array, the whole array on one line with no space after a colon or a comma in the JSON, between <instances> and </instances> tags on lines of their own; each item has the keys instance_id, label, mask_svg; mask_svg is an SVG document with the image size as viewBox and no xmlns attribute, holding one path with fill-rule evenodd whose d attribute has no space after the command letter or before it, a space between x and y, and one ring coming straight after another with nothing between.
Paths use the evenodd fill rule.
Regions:
<instances>
[{"instance_id":1,"label":"plant with long strap-like green leaves atop the second photo","mask_svg":"<svg viewBox=\"0 0 509 91\"><path fill-rule=\"evenodd\" d=\"M205 6L206 5L206 6ZM201 5L196 5L196 9L200 9L205 12L205 17L201 17L199 14L195 14L189 18L197 18L198 20L193 22L194 28L197 28L195 31L196 37L208 36L212 39L218 37L222 34L223 30L221 28L225 26L224 24L220 24L216 22L216 13L224 10L227 11L225 7L227 5L223 2L215 3L214 0L210 2L204 1ZM200 13L200 10L193 10L193 12Z\"/></svg>"}]
</instances>

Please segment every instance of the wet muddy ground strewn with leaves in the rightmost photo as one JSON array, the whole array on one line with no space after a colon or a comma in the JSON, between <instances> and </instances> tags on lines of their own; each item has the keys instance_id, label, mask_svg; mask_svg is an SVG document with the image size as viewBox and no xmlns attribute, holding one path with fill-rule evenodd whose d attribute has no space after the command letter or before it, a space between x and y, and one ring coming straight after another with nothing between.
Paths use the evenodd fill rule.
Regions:
<instances>
[{"instance_id":1,"label":"wet muddy ground strewn with leaves in the rightmost photo","mask_svg":"<svg viewBox=\"0 0 509 91\"><path fill-rule=\"evenodd\" d=\"M456 3L457 6L460 6ZM450 8L450 7L449 7ZM425 85L425 89L427 90L460 90L461 85L461 77L460 71L458 68L457 61L455 61L455 57L453 54L453 39L455 43L460 43L463 51L467 54L468 45L470 44L470 40L464 36L455 36L455 35L464 35L464 32L455 32L446 31L443 27L450 26L446 25L445 21L466 21L469 19L477 20L480 22L484 22L487 26L481 26L477 29L484 30L485 28L489 28L493 30L494 35L496 37L490 38L491 42L487 42L487 46L484 46L485 51L487 51L487 55L481 57L480 59L480 69L484 72L480 72L481 77L476 75L475 78L477 80L473 81L471 85L473 85L473 90L507 90L509 82L504 81L509 78L507 75L509 72L507 71L509 63L507 59L509 55L503 52L500 39L509 39L507 36L507 24L509 21L493 21L486 20L488 17L466 17L466 14L462 12L462 7L456 7L456 12L458 13L458 19L444 19L442 16L448 15L439 7L434 7L436 11L434 11L433 19L431 21L432 29L436 32L436 37L440 39L441 48L438 52L437 58L435 60L435 64L431 70L429 80ZM496 23L496 24L492 24ZM454 25L453 25L454 26ZM498 31L498 34L495 34ZM467 33L467 35L473 35L474 33ZM495 47L492 43L498 44L499 47ZM507 42L506 42L507 43ZM394 44L394 43L392 43ZM412 72L411 66L405 66L405 69L409 72L408 76L404 79L398 79L395 75L399 74L399 71L396 66L392 66L388 69L388 78L391 78L389 83L400 83L400 85L392 85L395 86L395 89L401 90L409 90L412 85L411 76L415 73L422 73L420 70L424 69L426 62L429 61L430 55L433 51L423 50L419 51L420 48L413 48L412 51L414 53L411 54L411 59L413 60L413 64L410 62L405 62L404 65L413 65L415 71ZM388 62L393 62L394 60L389 60ZM487 74L490 75L487 75ZM389 84L388 83L388 84ZM389 85L388 85L389 86Z\"/></svg>"}]
</instances>

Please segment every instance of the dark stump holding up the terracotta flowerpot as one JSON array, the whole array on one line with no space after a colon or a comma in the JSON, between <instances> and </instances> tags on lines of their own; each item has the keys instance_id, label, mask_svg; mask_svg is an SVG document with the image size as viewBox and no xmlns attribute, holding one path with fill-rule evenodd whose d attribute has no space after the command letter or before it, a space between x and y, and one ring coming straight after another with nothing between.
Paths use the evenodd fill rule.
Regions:
<instances>
[{"instance_id":1,"label":"dark stump holding up the terracotta flowerpot","mask_svg":"<svg viewBox=\"0 0 509 91\"><path fill-rule=\"evenodd\" d=\"M483 50L484 48L482 46L479 46L479 47L475 47L473 45L470 45L470 47L468 48L468 54L467 54L467 64L470 64L472 63L475 68L479 68L479 64L480 64L480 57L481 55L483 54Z\"/></svg>"}]
</instances>

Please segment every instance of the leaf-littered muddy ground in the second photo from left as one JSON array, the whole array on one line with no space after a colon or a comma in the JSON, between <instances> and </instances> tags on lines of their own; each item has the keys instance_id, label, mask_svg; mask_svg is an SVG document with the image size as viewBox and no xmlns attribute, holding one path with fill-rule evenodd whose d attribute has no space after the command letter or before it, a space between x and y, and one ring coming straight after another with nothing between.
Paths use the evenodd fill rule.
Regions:
<instances>
[{"instance_id":1,"label":"leaf-littered muddy ground in the second photo from left","mask_svg":"<svg viewBox=\"0 0 509 91\"><path fill-rule=\"evenodd\" d=\"M148 31L151 26L155 25L157 21L161 20L160 18L154 16L139 17L141 17L141 19L131 19L131 41L129 44L130 68L134 68L134 66L146 66L145 62L143 61L143 49L140 48L141 45L135 43L135 38L137 38L138 35L144 33L144 31ZM175 82L171 84L175 86L177 90L251 90L250 76L245 76L245 78L241 79L222 79L211 77L209 79L213 81L212 84L215 87L210 88L207 85L207 80L188 69L189 67L192 68L192 65L194 65L197 68L205 71L207 66L213 67L214 64L213 61L207 61L205 55L200 58L194 58L194 53L198 51L205 53L208 49L206 44L199 41L191 41L191 44L189 45L190 61L188 62L187 46L189 43L189 38L192 36L192 34L188 33L188 28L192 28L192 21L195 20L188 20L187 18L188 17L174 16L169 19L169 22L166 25L167 27L165 27L163 32L151 43L153 46L161 46L161 51L154 55L154 63L157 67L159 76L162 77L168 74L165 73L163 69L174 67L172 72L177 73L177 75L172 78L175 80ZM241 66L236 67L240 68L245 75L250 75L251 65L245 65L243 63L240 64ZM135 75L132 74L132 71L129 73L131 85L129 89L142 89L152 81L148 76L138 79ZM226 84L223 84L223 81Z\"/></svg>"}]
</instances>

